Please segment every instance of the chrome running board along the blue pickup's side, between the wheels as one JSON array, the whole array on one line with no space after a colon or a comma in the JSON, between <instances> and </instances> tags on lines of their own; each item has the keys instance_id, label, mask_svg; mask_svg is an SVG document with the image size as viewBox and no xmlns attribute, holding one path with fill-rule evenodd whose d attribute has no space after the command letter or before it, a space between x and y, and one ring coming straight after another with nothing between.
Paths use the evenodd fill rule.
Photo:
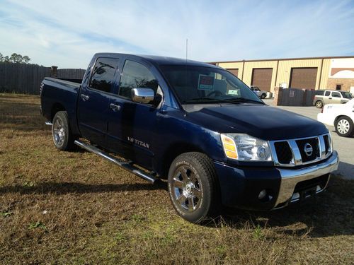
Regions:
<instances>
[{"instance_id":1,"label":"chrome running board along the blue pickup's side, between the wheels","mask_svg":"<svg viewBox=\"0 0 354 265\"><path fill-rule=\"evenodd\" d=\"M154 182L156 182L156 180L159 180L156 177L149 175L146 172L143 172L138 167L135 167L134 165L132 165L131 162L125 162L125 161L119 160L118 158L115 158L113 155L110 155L109 153L105 153L104 151L97 148L96 146L91 146L88 143L83 143L78 140L74 141L74 143L77 146L80 146L81 148L84 148L85 150L87 150L91 153L95 153L96 155L101 156L101 158L105 158L105 159L109 160L110 162L115 163L115 165L119 165L120 167L124 168L125 170L132 172L134 175L137 175L138 177L141 177L141 178L147 180L148 182L152 182L152 184L154 184Z\"/></svg>"}]
</instances>

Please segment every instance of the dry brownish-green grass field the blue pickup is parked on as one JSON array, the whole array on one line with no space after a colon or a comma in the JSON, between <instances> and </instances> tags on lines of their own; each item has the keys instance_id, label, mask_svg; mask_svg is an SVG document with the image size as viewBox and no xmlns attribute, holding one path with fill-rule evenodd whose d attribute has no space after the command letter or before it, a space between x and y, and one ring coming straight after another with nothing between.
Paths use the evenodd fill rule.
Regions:
<instances>
[{"instance_id":1,"label":"dry brownish-green grass field the blue pickup is parked on","mask_svg":"<svg viewBox=\"0 0 354 265\"><path fill-rule=\"evenodd\" d=\"M354 181L302 206L209 225L84 151L59 152L36 96L0 94L0 264L353 264Z\"/></svg>"}]
</instances>

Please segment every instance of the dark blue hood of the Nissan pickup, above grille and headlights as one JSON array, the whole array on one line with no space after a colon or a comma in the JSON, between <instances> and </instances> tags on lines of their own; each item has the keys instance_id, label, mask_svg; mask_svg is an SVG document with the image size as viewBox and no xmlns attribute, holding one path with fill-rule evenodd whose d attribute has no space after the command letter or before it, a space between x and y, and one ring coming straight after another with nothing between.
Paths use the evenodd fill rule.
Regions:
<instances>
[{"instance_id":1,"label":"dark blue hood of the Nissan pickup, above grille and headlights","mask_svg":"<svg viewBox=\"0 0 354 265\"><path fill-rule=\"evenodd\" d=\"M219 133L249 134L264 140L296 139L326 134L324 124L268 105L204 107L189 113L193 122Z\"/></svg>"}]
</instances>

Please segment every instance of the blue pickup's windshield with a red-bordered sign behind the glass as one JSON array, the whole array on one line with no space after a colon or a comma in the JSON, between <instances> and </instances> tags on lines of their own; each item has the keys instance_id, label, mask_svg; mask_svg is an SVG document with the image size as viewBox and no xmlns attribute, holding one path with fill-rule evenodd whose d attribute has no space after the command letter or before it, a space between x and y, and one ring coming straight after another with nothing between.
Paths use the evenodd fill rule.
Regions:
<instances>
[{"instance_id":1,"label":"blue pickup's windshield with a red-bordered sign behind the glass","mask_svg":"<svg viewBox=\"0 0 354 265\"><path fill-rule=\"evenodd\" d=\"M186 103L263 101L239 78L223 69L203 66L161 66L178 100Z\"/></svg>"}]
</instances>

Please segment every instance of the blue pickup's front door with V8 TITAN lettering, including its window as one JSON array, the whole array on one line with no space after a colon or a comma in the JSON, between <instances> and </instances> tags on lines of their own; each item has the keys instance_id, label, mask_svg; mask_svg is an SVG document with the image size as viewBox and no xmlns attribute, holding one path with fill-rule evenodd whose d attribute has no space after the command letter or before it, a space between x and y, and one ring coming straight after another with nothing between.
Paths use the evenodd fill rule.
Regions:
<instances>
[{"instance_id":1,"label":"blue pickup's front door with V8 TITAN lettering, including its window","mask_svg":"<svg viewBox=\"0 0 354 265\"><path fill-rule=\"evenodd\" d=\"M158 88L156 78L147 66L126 60L122 69L118 95L110 98L108 143L110 149L121 153L139 165L150 168L154 156L152 142L156 124L156 107L132 101L132 88Z\"/></svg>"}]
</instances>

